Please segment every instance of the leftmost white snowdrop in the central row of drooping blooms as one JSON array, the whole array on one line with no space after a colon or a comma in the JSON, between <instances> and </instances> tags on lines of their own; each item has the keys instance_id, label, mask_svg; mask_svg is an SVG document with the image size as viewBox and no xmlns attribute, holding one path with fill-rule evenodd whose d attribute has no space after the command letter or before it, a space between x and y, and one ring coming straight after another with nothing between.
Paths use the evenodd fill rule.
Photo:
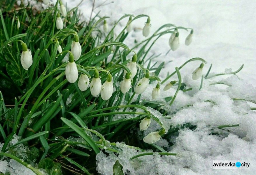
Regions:
<instances>
[{"instance_id":1,"label":"leftmost white snowdrop in the central row of drooping blooms","mask_svg":"<svg viewBox=\"0 0 256 175\"><path fill-rule=\"evenodd\" d=\"M69 83L75 83L78 78L78 70L72 53L69 54L69 62L66 66L66 78Z\"/></svg>"}]
</instances>

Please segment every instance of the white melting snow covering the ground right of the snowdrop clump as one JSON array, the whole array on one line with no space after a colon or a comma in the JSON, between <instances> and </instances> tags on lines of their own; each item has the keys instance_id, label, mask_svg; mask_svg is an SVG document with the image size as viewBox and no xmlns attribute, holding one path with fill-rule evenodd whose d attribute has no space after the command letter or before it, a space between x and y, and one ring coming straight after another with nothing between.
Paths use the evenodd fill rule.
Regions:
<instances>
[{"instance_id":1,"label":"white melting snow covering the ground right of the snowdrop clump","mask_svg":"<svg viewBox=\"0 0 256 175\"><path fill-rule=\"evenodd\" d=\"M63 0L71 9L81 0ZM88 19L91 13L93 0L84 0L79 8ZM169 52L168 40L170 35L160 38L151 49L151 53L162 54L155 61L169 62L160 73L164 78L167 72L173 72L174 67L180 66L186 60L194 57L205 59L203 73L205 74L213 64L212 71L215 73L225 72L226 68L237 70L242 64L244 68L236 76L220 76L203 83L199 91L200 80L193 81L191 72L195 70L200 62L192 62L181 70L183 82L193 87L193 91L187 93L179 92L175 103L168 107L175 114L169 115L172 119L164 119L160 113L152 111L158 116L165 126L182 125L189 122L197 125L194 131L182 129L179 136L166 138L175 142L169 147L170 152L178 155L172 156L144 156L129 161L129 157L139 152L127 149L120 144L123 153L117 157L114 154L106 156L103 153L97 155L98 171L101 174L113 174L112 166L115 160L124 166L124 171L131 174L254 174L256 170L256 113L250 110L255 107L253 103L245 101L233 101L232 98L256 100L256 1L232 0L232 1L201 1L201 0L96 0L93 15L101 11L101 16L109 16L109 25L113 25L124 14L147 14L151 17L151 34L161 25L166 23L175 24L194 29L193 42L185 46L185 38L189 32L180 30L180 48L175 52ZM134 45L134 39L142 41L141 29L146 18L134 21L133 28L129 33L125 44L129 47ZM123 20L116 27L116 33L121 31L127 20ZM230 71L230 70L228 70ZM174 78L175 79L175 78ZM214 81L231 85L224 87L210 84ZM142 98L148 99L155 85L150 85ZM161 91L161 97L173 96L175 87L168 91ZM163 101L162 98L158 99ZM210 102L213 101L214 103ZM186 105L191 105L185 107ZM250 105L250 106L249 106ZM184 107L183 109L181 109ZM151 110L151 109L150 109ZM240 124L240 127L231 127L229 132L217 129L219 125ZM149 132L159 129L157 123L143 133L142 138ZM212 135L212 132L220 135ZM243 139L242 139L243 138ZM168 147L167 141L161 139L159 146ZM213 170L213 160L241 160L251 161L251 167L247 170ZM253 162L254 161L254 162Z\"/></svg>"}]
</instances>

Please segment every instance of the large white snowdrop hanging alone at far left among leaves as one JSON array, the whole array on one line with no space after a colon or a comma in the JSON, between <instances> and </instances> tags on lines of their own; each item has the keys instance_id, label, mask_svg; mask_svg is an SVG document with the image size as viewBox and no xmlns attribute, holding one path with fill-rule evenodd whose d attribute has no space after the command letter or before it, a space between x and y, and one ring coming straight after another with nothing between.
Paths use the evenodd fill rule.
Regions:
<instances>
[{"instance_id":1,"label":"large white snowdrop hanging alone at far left among leaves","mask_svg":"<svg viewBox=\"0 0 256 175\"><path fill-rule=\"evenodd\" d=\"M25 70L28 70L28 68L33 63L33 58L32 58L31 51L28 49L26 43L22 43L22 55L20 57L20 62L22 63L22 67Z\"/></svg>"}]
</instances>

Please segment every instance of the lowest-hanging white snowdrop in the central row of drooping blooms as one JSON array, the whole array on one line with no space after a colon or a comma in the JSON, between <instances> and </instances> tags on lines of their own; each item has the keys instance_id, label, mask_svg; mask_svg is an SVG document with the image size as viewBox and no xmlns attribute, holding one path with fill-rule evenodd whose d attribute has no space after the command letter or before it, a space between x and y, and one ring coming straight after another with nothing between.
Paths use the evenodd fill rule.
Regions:
<instances>
[{"instance_id":1,"label":"lowest-hanging white snowdrop in the central row of drooping blooms","mask_svg":"<svg viewBox=\"0 0 256 175\"><path fill-rule=\"evenodd\" d=\"M105 83L103 83L101 87L100 96L102 100L110 99L110 97L112 96L113 90L114 90L114 87L112 82L112 75L109 74L107 81L105 81Z\"/></svg>"}]
</instances>

